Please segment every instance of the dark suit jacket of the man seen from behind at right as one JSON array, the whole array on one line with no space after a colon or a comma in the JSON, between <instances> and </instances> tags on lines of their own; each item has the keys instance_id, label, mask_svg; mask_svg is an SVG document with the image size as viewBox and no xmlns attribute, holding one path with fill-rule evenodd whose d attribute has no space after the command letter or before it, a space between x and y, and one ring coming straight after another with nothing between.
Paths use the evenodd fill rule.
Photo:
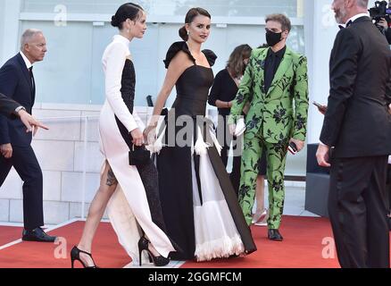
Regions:
<instances>
[{"instance_id":1,"label":"dark suit jacket of the man seen from behind at right","mask_svg":"<svg viewBox=\"0 0 391 286\"><path fill-rule=\"evenodd\" d=\"M335 157L391 154L391 51L368 17L339 30L320 141Z\"/></svg>"}]
</instances>

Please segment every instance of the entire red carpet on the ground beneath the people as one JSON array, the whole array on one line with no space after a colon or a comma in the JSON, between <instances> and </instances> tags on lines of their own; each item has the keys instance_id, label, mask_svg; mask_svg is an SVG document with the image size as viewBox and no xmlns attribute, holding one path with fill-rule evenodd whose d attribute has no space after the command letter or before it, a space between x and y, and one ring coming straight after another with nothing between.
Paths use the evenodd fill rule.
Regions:
<instances>
[{"instance_id":1,"label":"entire red carpet on the ground beneath the people","mask_svg":"<svg viewBox=\"0 0 391 286\"><path fill-rule=\"evenodd\" d=\"M71 261L69 252L81 236L84 222L71 223L51 235L66 238L66 243L21 242L10 248L0 250L0 268L33 267L33 268L69 268ZM3 244L21 238L21 229L0 229L0 241ZM7 232L8 231L8 232ZM12 232L13 231L13 232ZM335 268L337 257L322 257L324 238L331 237L329 221L312 217L284 217L281 226L283 242L267 240L265 227L252 228L258 251L247 257L214 260L207 263L187 262L184 268ZM57 249L56 249L57 248ZM55 257L55 253L60 257ZM130 258L121 248L110 223L101 223L96 233L93 248L97 265L103 268L123 267ZM62 257L66 256L66 257ZM80 266L78 264L78 266Z\"/></svg>"}]
</instances>

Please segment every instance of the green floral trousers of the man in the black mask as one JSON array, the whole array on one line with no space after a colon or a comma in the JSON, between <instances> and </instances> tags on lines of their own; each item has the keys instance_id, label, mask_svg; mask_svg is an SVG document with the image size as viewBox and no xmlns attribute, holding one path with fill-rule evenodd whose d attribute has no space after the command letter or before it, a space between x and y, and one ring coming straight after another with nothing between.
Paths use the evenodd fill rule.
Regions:
<instances>
[{"instance_id":1,"label":"green floral trousers of the man in the black mask","mask_svg":"<svg viewBox=\"0 0 391 286\"><path fill-rule=\"evenodd\" d=\"M269 229L278 230L284 209L284 172L287 161L287 140L268 143L260 134L246 132L242 155L239 205L245 214L245 221L252 223L252 210L255 199L256 177L262 152L266 152L269 185Z\"/></svg>"}]
</instances>

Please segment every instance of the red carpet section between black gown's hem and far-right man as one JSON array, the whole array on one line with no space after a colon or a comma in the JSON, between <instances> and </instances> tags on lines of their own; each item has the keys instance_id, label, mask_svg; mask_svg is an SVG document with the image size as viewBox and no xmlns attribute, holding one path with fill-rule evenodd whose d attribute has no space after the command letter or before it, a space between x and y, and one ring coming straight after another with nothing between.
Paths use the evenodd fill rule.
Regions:
<instances>
[{"instance_id":1,"label":"red carpet section between black gown's hem and far-right man","mask_svg":"<svg viewBox=\"0 0 391 286\"><path fill-rule=\"evenodd\" d=\"M252 232L258 250L248 257L218 261L187 262L184 268L336 268L337 257L322 257L322 240L332 237L329 220L324 218L284 216L280 232L284 241L267 239L267 228L253 226ZM337 255L337 254L336 254Z\"/></svg>"}]
</instances>

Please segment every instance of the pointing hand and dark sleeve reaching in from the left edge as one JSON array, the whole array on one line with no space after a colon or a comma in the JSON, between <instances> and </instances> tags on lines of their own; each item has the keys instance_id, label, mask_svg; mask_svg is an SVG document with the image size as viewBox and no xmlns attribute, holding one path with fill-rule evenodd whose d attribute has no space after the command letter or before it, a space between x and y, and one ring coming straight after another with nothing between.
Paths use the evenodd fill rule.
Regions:
<instances>
[{"instance_id":1,"label":"pointing hand and dark sleeve reaching in from the left edge","mask_svg":"<svg viewBox=\"0 0 391 286\"><path fill-rule=\"evenodd\" d=\"M48 130L48 128L38 122L33 116L26 112L26 108L18 104L16 101L5 97L0 93L0 114L3 114L11 119L20 118L21 122L27 128L27 132L33 131L33 136L36 134L38 128Z\"/></svg>"}]
</instances>

